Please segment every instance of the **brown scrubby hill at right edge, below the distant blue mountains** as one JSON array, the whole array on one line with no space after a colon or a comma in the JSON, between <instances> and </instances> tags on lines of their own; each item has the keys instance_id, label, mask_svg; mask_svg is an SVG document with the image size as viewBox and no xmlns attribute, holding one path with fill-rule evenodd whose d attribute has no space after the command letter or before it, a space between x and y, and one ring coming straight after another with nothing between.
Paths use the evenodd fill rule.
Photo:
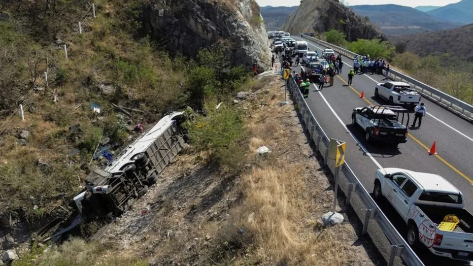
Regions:
<instances>
[{"instance_id":1,"label":"brown scrubby hill at right edge, below the distant blue mountains","mask_svg":"<svg viewBox=\"0 0 473 266\"><path fill-rule=\"evenodd\" d=\"M404 42L406 50L421 56L450 54L451 57L473 62L473 24L446 31L390 36L392 43Z\"/></svg>"}]
</instances>

